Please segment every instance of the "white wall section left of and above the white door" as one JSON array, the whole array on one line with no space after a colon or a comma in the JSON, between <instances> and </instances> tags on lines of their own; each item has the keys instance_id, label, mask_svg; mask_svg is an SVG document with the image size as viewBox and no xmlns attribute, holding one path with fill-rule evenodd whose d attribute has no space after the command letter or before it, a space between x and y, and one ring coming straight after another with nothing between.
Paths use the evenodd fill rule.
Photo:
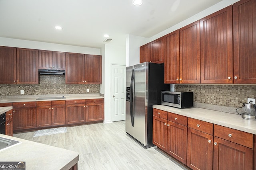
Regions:
<instances>
[{"instance_id":1,"label":"white wall section left of and above the white door","mask_svg":"<svg viewBox=\"0 0 256 170\"><path fill-rule=\"evenodd\" d=\"M126 64L126 47L106 44L105 45L105 80L104 80L104 123L112 122L112 64Z\"/></svg>"}]
</instances>

